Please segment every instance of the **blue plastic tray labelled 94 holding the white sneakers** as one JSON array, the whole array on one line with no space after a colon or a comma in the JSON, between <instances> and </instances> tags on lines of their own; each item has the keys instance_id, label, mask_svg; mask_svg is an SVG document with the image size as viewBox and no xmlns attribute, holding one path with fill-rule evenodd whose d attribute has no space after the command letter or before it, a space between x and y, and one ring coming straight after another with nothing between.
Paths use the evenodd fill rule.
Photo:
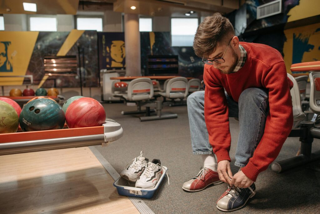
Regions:
<instances>
[{"instance_id":1,"label":"blue plastic tray labelled 94 holding the white sneakers","mask_svg":"<svg viewBox=\"0 0 320 214\"><path fill-rule=\"evenodd\" d=\"M152 198L153 194L158 189L160 183L164 178L164 175L167 172L166 167L163 166L163 169L164 169L164 172L162 173L162 176L160 177L156 186L152 189L142 189L142 188L136 188L134 186L128 186L128 181L122 177L119 177L113 183L113 185L117 188L119 195L126 195L126 196L139 197L139 198Z\"/></svg>"}]
</instances>

